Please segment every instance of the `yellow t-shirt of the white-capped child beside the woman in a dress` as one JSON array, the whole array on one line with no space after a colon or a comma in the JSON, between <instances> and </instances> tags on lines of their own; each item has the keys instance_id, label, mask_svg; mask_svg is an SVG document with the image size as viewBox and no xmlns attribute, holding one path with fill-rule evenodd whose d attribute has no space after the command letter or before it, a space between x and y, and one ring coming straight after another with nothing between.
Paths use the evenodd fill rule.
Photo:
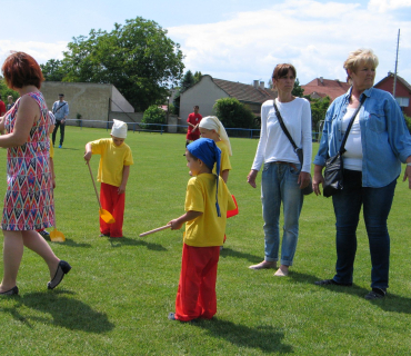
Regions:
<instances>
[{"instance_id":1,"label":"yellow t-shirt of the white-capped child beside the woman in a dress","mask_svg":"<svg viewBox=\"0 0 411 356\"><path fill-rule=\"evenodd\" d=\"M131 149L126 142L116 146L111 138L91 141L91 154L100 155L97 180L120 187L124 166L133 164Z\"/></svg>"}]
</instances>

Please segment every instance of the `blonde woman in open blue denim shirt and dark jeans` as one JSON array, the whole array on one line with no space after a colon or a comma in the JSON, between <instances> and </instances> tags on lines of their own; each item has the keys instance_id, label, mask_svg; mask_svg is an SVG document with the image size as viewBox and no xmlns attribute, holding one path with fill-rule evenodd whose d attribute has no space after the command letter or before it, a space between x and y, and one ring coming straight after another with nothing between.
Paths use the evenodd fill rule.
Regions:
<instances>
[{"instance_id":1,"label":"blonde woman in open blue denim shirt and dark jeans","mask_svg":"<svg viewBox=\"0 0 411 356\"><path fill-rule=\"evenodd\" d=\"M390 261L390 236L387 219L391 210L401 162L407 164L403 180L411 189L411 136L395 99L372 88L378 58L372 50L351 52L344 62L350 90L337 98L327 111L320 148L314 159L314 192L324 181L322 169L328 157L340 149L348 123L360 100L365 97L352 125L342 156L342 190L332 196L337 228L337 274L317 285L352 286L357 251L357 226L361 206L371 254L371 288L367 299L387 294Z\"/></svg>"}]
</instances>

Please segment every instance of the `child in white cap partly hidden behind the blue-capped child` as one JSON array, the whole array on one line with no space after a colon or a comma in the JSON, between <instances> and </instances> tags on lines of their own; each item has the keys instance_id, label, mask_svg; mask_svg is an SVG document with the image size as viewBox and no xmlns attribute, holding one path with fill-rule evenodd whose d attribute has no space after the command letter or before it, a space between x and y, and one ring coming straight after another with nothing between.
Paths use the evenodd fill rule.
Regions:
<instances>
[{"instance_id":1,"label":"child in white cap partly hidden behind the blue-capped child","mask_svg":"<svg viewBox=\"0 0 411 356\"><path fill-rule=\"evenodd\" d=\"M232 156L231 145L229 136L227 135L224 126L215 116L208 116L202 118L199 123L199 130L201 137L211 138L218 148L221 150L221 178L227 181L229 180L229 174L231 170L230 156ZM215 168L213 170L215 172Z\"/></svg>"}]
</instances>

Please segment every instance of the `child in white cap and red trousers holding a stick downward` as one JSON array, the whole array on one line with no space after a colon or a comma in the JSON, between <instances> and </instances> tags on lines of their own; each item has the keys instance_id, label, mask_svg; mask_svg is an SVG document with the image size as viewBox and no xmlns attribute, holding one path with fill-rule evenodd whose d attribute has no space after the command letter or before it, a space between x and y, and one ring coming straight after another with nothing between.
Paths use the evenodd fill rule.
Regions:
<instances>
[{"instance_id":1,"label":"child in white cap and red trousers holding a stick downward","mask_svg":"<svg viewBox=\"0 0 411 356\"><path fill-rule=\"evenodd\" d=\"M111 138L102 138L86 145L84 160L92 155L100 155L97 180L101 182L101 207L109 211L116 222L107 224L100 218L100 236L111 238L122 237L122 224L126 204L126 186L133 164L131 149L124 144L127 123L113 120Z\"/></svg>"}]
</instances>

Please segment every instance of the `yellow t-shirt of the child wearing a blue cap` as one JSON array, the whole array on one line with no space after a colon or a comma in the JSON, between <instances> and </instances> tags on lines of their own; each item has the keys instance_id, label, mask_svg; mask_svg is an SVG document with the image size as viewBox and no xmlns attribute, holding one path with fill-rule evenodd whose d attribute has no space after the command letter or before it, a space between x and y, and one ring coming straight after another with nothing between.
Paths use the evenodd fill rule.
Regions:
<instances>
[{"instance_id":1,"label":"yellow t-shirt of the child wearing a blue cap","mask_svg":"<svg viewBox=\"0 0 411 356\"><path fill-rule=\"evenodd\" d=\"M186 222L184 244L196 247L222 246L227 210L235 208L231 194L224 181L219 177L219 206L221 217L215 209L215 175L201 174L189 180L186 194L186 211L194 210L203 214Z\"/></svg>"}]
</instances>

